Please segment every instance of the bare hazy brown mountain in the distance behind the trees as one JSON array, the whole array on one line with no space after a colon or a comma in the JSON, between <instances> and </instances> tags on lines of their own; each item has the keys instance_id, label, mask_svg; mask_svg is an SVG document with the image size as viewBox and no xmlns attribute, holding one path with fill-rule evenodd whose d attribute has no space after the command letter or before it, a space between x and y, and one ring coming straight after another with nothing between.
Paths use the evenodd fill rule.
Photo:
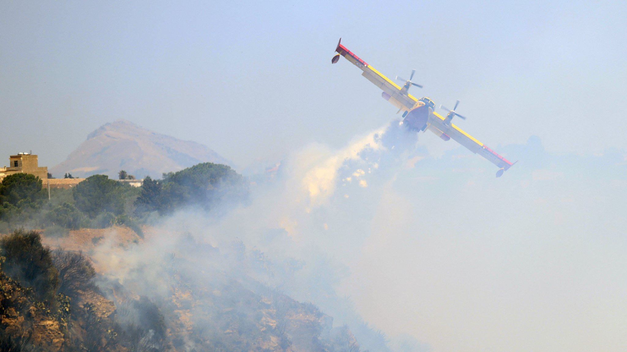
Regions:
<instances>
[{"instance_id":1,"label":"bare hazy brown mountain in the distance behind the trees","mask_svg":"<svg viewBox=\"0 0 627 352\"><path fill-rule=\"evenodd\" d=\"M141 179L161 178L201 162L228 163L205 145L152 132L127 120L105 123L87 135L87 140L50 168L54 177L66 172L73 177L97 173L117 178L120 170Z\"/></svg>"}]
</instances>

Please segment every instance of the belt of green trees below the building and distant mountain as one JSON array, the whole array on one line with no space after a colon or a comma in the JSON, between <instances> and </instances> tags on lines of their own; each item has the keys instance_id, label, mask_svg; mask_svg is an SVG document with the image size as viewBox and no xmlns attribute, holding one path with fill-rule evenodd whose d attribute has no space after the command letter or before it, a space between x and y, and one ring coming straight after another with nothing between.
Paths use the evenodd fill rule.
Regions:
<instances>
[{"instance_id":1,"label":"belt of green trees below the building and distant mountain","mask_svg":"<svg viewBox=\"0 0 627 352\"><path fill-rule=\"evenodd\" d=\"M119 177L132 179L124 170ZM243 176L215 163L167 173L162 180L147 177L139 188L93 175L73 189L52 189L50 200L38 177L16 173L0 183L0 233L24 227L65 236L68 230L126 225L142 236L141 225L152 213L171 214L189 205L212 210L218 202L240 202L247 194Z\"/></svg>"}]
</instances>

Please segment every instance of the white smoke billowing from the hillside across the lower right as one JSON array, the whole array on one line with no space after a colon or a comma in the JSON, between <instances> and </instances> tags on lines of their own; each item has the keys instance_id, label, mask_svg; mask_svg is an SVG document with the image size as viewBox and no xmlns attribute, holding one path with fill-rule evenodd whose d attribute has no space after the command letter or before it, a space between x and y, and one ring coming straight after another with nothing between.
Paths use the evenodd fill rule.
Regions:
<instances>
[{"instance_id":1,"label":"white smoke billowing from the hillside across the lower right","mask_svg":"<svg viewBox=\"0 0 627 352\"><path fill-rule=\"evenodd\" d=\"M578 341L598 341L579 337L591 326L586 317L609 317L602 336L616 330L608 309L627 312L619 296L591 309L604 298L594 287L625 286L594 274L620 277L621 266L603 269L610 259L627 265L618 255L625 249L624 154L605 163L554 158L532 138L510 148L521 158L529 153L495 179L477 155L460 149L434 160L416 136L396 121L339 150L310 145L251 186L250 204L219 217L182 210L144 244L120 250L105 241L95 257L111 279L159 296L167 291L162 258L173 247L195 257L200 267L190 270L209 280L215 270L238 270L212 261L212 248L241 239L246 251L268 259L250 275L349 324L371 351L582 350ZM598 171L586 173L586 163ZM208 245L181 247L186 236ZM582 308L572 308L577 302ZM576 324L564 318L569 307ZM387 346L369 329L376 327L393 338ZM520 341L521 334L534 339ZM609 349L620 343L603 341Z\"/></svg>"}]
</instances>

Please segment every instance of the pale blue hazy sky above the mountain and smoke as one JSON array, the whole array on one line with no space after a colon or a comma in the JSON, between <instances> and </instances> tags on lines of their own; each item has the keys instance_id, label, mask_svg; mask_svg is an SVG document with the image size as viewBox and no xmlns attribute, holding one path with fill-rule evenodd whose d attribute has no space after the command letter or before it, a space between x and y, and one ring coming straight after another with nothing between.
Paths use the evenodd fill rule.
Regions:
<instances>
[{"instance_id":1,"label":"pale blue hazy sky above the mountain and smoke","mask_svg":"<svg viewBox=\"0 0 627 352\"><path fill-rule=\"evenodd\" d=\"M0 4L0 155L64 160L118 118L214 148L236 166L310 142L343 145L396 112L340 36L414 95L461 100L491 147L627 147L621 1L41 2ZM433 150L452 143L429 145Z\"/></svg>"}]
</instances>

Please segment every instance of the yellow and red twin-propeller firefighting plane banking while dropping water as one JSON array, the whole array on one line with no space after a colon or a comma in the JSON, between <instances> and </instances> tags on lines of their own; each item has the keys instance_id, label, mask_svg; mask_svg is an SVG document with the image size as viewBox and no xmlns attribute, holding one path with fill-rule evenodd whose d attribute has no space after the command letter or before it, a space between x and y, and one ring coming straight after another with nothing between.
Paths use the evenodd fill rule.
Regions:
<instances>
[{"instance_id":1,"label":"yellow and red twin-propeller firefighting plane banking while dropping water","mask_svg":"<svg viewBox=\"0 0 627 352\"><path fill-rule=\"evenodd\" d=\"M448 111L446 116L441 116L433 111L435 110L435 103L433 100L429 99L427 96L423 96L423 98L418 99L409 94L408 90L411 86L418 86L418 88L422 88L421 85L411 81L414 78L416 70L411 72L409 80L404 80L404 78L396 76L397 80L405 81L403 86L399 86L342 45L342 38L340 38L340 41L337 42L335 51L337 54L333 56L331 63L337 63L337 61L340 60L341 55L353 65L361 68L361 70L364 71L362 76L366 77L382 90L382 98L398 108L396 113L403 111L403 125L408 127L410 130L415 130L417 132L426 132L426 130L429 130L445 141L453 138L453 140L468 148L471 152L478 153L494 165L497 165L497 177L501 177L503 172L507 171L516 163L509 162L507 159L498 155L497 152L488 148L485 144L479 142L477 139L452 123L455 116L466 120L464 116L461 116L455 111L460 103L459 100L455 103L453 110L440 105L440 108Z\"/></svg>"}]
</instances>

